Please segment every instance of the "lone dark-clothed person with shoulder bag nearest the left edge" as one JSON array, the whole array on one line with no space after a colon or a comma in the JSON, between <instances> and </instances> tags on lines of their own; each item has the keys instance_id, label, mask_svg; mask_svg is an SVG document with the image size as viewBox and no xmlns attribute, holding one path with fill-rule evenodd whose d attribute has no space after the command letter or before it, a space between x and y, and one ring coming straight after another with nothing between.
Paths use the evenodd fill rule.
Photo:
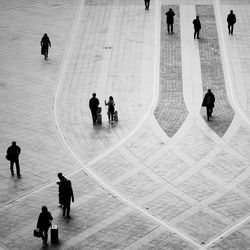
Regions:
<instances>
[{"instance_id":1,"label":"lone dark-clothed person with shoulder bag nearest the left edge","mask_svg":"<svg viewBox=\"0 0 250 250\"><path fill-rule=\"evenodd\" d=\"M10 161L10 172L11 175L14 175L14 163L16 165L16 174L17 177L20 178L21 174L20 174L20 165L19 165L19 155L21 153L21 148L19 146L16 145L16 142L13 141L12 145L10 147L8 147L7 149L7 156L6 158Z\"/></svg>"}]
</instances>

